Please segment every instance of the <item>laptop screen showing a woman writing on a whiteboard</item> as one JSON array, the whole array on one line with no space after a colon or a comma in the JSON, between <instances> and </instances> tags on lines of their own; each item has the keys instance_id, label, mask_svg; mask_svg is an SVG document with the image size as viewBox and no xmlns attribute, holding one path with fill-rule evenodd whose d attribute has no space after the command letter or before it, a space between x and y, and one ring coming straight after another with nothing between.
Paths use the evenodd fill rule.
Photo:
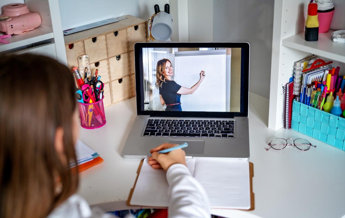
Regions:
<instances>
[{"instance_id":1,"label":"laptop screen showing a woman writing on a whiteboard","mask_svg":"<svg viewBox=\"0 0 345 218\"><path fill-rule=\"evenodd\" d=\"M245 112L248 97L244 99L241 93L244 88L248 90L242 87L244 48L150 44L140 48L141 85L137 94L139 91L141 110L162 114Z\"/></svg>"}]
</instances>

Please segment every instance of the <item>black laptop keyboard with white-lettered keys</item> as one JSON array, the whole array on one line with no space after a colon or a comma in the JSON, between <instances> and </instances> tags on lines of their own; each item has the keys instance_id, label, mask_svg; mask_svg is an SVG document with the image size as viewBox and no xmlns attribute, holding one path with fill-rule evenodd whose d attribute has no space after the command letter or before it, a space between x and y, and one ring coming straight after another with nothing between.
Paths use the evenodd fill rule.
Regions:
<instances>
[{"instance_id":1,"label":"black laptop keyboard with white-lettered keys","mask_svg":"<svg viewBox=\"0 0 345 218\"><path fill-rule=\"evenodd\" d=\"M143 136L234 138L234 120L148 119Z\"/></svg>"}]
</instances>

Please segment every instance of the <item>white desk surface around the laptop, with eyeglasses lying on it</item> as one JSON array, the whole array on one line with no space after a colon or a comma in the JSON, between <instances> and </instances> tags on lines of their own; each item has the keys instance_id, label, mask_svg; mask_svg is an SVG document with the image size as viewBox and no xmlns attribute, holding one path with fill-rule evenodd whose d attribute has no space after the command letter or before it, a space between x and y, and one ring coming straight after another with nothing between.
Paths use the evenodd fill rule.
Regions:
<instances>
[{"instance_id":1,"label":"white desk surface around the laptop, with eyeglasses lying on it","mask_svg":"<svg viewBox=\"0 0 345 218\"><path fill-rule=\"evenodd\" d=\"M342 217L345 214L345 151L294 130L267 128L269 99L249 95L250 161L254 164L255 210L213 210L224 217ZM104 159L81 173L79 194L105 210L126 209L139 160L120 155L136 116L135 98L105 109L107 124L82 129L80 140ZM317 148L270 149L274 138L305 138ZM140 146L140 145L138 145ZM106 203L106 204L104 204Z\"/></svg>"}]
</instances>

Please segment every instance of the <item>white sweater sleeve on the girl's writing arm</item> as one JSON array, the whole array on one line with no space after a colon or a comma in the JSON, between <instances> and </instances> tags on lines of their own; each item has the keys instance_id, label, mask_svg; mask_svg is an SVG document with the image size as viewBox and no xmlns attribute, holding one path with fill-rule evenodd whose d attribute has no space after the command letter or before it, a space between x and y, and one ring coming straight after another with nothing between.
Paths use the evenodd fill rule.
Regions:
<instances>
[{"instance_id":1,"label":"white sweater sleeve on the girl's writing arm","mask_svg":"<svg viewBox=\"0 0 345 218\"><path fill-rule=\"evenodd\" d=\"M204 188L193 178L183 164L174 164L167 170L169 184L168 215L170 218L210 218L210 204Z\"/></svg>"}]
</instances>

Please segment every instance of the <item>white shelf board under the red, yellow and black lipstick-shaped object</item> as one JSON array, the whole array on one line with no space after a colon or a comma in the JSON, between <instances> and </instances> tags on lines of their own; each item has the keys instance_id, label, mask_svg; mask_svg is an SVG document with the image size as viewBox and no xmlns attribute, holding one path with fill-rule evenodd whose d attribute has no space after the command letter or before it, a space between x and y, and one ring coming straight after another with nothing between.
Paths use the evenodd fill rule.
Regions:
<instances>
[{"instance_id":1,"label":"white shelf board under the red, yellow and black lipstick-shaped object","mask_svg":"<svg viewBox=\"0 0 345 218\"><path fill-rule=\"evenodd\" d=\"M319 33L318 41L313 42L305 41L304 32L300 32L283 39L282 45L345 63L345 44L333 42L331 40L332 32L330 30L326 33Z\"/></svg>"}]
</instances>

